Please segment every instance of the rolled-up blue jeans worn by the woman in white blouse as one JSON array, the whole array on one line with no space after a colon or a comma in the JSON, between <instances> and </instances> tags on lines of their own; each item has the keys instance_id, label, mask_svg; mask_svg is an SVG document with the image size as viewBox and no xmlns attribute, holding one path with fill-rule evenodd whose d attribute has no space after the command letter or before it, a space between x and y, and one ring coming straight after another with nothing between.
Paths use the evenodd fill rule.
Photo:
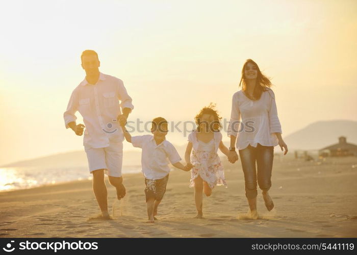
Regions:
<instances>
[{"instance_id":1,"label":"rolled-up blue jeans worn by the woman in white blouse","mask_svg":"<svg viewBox=\"0 0 357 255\"><path fill-rule=\"evenodd\" d=\"M245 149L239 150L239 156L244 172L245 196L248 199L257 197L257 180L259 188L268 191L271 187L274 146L263 146L258 143L257 147L252 147L249 144Z\"/></svg>"}]
</instances>

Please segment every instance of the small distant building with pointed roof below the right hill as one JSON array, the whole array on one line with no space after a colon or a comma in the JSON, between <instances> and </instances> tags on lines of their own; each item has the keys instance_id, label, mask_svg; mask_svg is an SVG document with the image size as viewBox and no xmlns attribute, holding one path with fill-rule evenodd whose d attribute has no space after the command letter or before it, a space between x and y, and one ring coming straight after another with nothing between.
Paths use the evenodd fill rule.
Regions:
<instances>
[{"instance_id":1,"label":"small distant building with pointed roof below the right hill","mask_svg":"<svg viewBox=\"0 0 357 255\"><path fill-rule=\"evenodd\" d=\"M319 150L322 157L357 156L357 145L346 142L346 137L340 136L339 143Z\"/></svg>"}]
</instances>

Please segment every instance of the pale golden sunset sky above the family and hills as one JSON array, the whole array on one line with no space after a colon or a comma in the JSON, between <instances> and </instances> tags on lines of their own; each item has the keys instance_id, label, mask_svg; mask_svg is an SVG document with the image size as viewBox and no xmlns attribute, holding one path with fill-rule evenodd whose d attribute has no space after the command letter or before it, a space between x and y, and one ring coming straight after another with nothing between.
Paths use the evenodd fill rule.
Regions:
<instances>
[{"instance_id":1,"label":"pale golden sunset sky above the family and hills","mask_svg":"<svg viewBox=\"0 0 357 255\"><path fill-rule=\"evenodd\" d=\"M0 24L0 165L83 150L63 112L85 77L85 49L123 80L131 120L193 121L210 102L229 119L250 58L274 84L283 138L319 120L357 121L354 0L15 0Z\"/></svg>"}]
</instances>

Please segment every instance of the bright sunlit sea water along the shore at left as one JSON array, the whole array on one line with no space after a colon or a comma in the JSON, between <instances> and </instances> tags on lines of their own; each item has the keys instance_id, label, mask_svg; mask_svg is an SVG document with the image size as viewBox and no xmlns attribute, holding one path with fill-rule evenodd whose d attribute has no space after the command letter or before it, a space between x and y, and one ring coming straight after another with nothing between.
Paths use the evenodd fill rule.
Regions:
<instances>
[{"instance_id":1,"label":"bright sunlit sea water along the shore at left","mask_svg":"<svg viewBox=\"0 0 357 255\"><path fill-rule=\"evenodd\" d=\"M122 173L138 173L141 166L123 166ZM92 180L88 167L39 168L6 167L0 168L0 192L29 189L42 185L64 182Z\"/></svg>"}]
</instances>

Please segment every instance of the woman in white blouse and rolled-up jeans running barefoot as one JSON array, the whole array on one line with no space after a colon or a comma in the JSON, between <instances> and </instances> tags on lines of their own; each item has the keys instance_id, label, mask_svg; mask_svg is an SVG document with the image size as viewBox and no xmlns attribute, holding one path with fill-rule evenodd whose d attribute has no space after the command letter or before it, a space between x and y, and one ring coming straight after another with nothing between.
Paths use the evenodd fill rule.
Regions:
<instances>
[{"instance_id":1,"label":"woman in white blouse and rolled-up jeans running barefoot","mask_svg":"<svg viewBox=\"0 0 357 255\"><path fill-rule=\"evenodd\" d=\"M243 65L239 86L241 85L242 89L232 98L231 121L228 125L228 136L231 137L228 160L231 163L238 160L236 144L244 172L245 196L248 199L250 216L257 219L257 179L265 206L271 211L274 203L268 190L271 187L274 146L279 145L282 151L285 148L284 155L288 152L288 146L282 138L275 96L270 89L272 84L251 59L247 59Z\"/></svg>"}]
</instances>

